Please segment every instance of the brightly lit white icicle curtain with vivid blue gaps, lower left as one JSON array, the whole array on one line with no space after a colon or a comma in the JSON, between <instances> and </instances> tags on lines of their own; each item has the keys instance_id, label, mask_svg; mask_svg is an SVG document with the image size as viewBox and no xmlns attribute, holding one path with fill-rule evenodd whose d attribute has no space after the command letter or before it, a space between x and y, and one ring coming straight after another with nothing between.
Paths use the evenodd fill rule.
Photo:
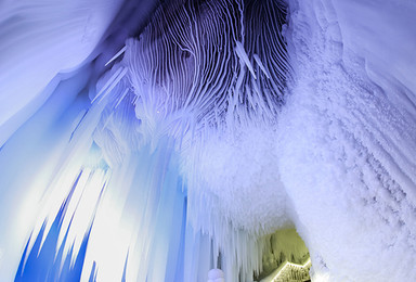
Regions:
<instances>
[{"instance_id":1,"label":"brightly lit white icicle curtain with vivid blue gaps, lower left","mask_svg":"<svg viewBox=\"0 0 416 282\"><path fill-rule=\"evenodd\" d=\"M93 103L57 151L63 162L47 168L53 174L41 182L47 193L35 205L38 223L16 280L83 280L91 272L98 281L182 280L186 205L174 141L144 143L109 167L110 152L93 140L109 118L107 102Z\"/></svg>"}]
</instances>

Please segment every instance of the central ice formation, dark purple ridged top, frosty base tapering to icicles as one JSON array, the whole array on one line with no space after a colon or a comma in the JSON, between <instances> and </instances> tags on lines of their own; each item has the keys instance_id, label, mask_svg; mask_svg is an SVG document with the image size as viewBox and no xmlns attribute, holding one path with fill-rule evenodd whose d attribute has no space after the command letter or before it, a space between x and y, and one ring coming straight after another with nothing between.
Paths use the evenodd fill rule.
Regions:
<instances>
[{"instance_id":1,"label":"central ice formation, dark purple ridged top, frosty base tapering to icicles","mask_svg":"<svg viewBox=\"0 0 416 282\"><path fill-rule=\"evenodd\" d=\"M259 15L269 28L258 22ZM127 41L123 59L108 75L117 82L126 73L114 100L133 105L140 126L128 132L151 143L166 134L179 141L188 222L196 234L212 241L213 254L222 254L226 280L252 279L261 269L259 236L290 221L278 176L272 170L265 176L264 163L257 159L273 146L259 130L270 131L284 100L285 17L283 2L162 4L139 39ZM112 138L118 139L118 132L112 130ZM230 158L238 154L235 148L251 146L257 137L258 150L248 157ZM249 162L253 164L236 167ZM242 174L247 175L230 181ZM262 185L263 193L252 197Z\"/></svg>"}]
</instances>

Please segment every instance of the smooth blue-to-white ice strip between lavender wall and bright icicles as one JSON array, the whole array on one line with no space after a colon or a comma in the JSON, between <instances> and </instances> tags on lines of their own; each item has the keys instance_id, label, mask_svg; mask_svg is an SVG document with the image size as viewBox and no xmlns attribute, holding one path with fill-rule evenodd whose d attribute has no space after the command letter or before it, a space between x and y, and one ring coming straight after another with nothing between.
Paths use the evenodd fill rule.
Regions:
<instances>
[{"instance_id":1,"label":"smooth blue-to-white ice strip between lavender wall and bright icicles","mask_svg":"<svg viewBox=\"0 0 416 282\"><path fill-rule=\"evenodd\" d=\"M17 257L22 254L14 251L25 245L35 222L44 220L39 203L48 195L47 188L53 175L69 158L78 163L79 155L72 156L66 148L73 130L89 107L88 99L77 95L83 92L90 78L89 69L83 67L70 79L62 81L40 111L1 148L1 280L11 281L15 275ZM79 145L78 151L82 150ZM66 175L65 185L73 181L73 168L66 170ZM62 201L54 204L60 205Z\"/></svg>"}]
</instances>

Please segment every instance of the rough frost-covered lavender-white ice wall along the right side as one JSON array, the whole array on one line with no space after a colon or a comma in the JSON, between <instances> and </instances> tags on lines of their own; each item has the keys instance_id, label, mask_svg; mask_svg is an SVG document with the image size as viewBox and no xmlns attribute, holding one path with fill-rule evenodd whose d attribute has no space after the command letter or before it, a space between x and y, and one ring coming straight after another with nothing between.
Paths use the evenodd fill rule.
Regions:
<instances>
[{"instance_id":1,"label":"rough frost-covered lavender-white ice wall along the right side","mask_svg":"<svg viewBox=\"0 0 416 282\"><path fill-rule=\"evenodd\" d=\"M408 280L416 277L408 79L416 66L406 51L414 4L334 2L292 5L296 82L280 118L282 182L316 280Z\"/></svg>"}]
</instances>

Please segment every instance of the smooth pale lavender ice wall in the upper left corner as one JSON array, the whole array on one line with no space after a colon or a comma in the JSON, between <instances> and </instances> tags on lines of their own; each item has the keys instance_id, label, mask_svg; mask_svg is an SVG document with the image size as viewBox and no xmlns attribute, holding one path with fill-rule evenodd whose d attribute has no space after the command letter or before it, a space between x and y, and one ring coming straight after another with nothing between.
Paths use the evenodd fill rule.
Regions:
<instances>
[{"instance_id":1,"label":"smooth pale lavender ice wall in the upper left corner","mask_svg":"<svg viewBox=\"0 0 416 282\"><path fill-rule=\"evenodd\" d=\"M89 56L120 3L0 3L0 144L44 103L60 72L78 67ZM52 86L42 92L51 80Z\"/></svg>"}]
</instances>

